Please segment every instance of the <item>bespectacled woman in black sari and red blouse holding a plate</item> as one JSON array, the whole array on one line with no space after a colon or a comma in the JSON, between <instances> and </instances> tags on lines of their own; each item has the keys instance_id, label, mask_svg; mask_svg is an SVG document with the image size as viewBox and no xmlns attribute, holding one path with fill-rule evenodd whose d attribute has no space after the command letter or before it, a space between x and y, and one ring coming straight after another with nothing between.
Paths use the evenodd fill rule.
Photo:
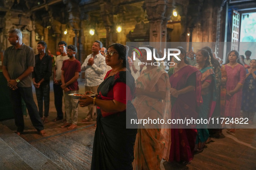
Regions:
<instances>
[{"instance_id":1,"label":"bespectacled woman in black sari and red blouse holding a plate","mask_svg":"<svg viewBox=\"0 0 256 170\"><path fill-rule=\"evenodd\" d=\"M132 170L137 129L136 126L126 129L126 122L137 118L131 103L135 90L134 79L128 71L129 66L126 67L125 46L111 44L104 55L112 70L107 72L99 85L97 97L83 96L79 99L81 107L97 105L91 170Z\"/></svg>"}]
</instances>

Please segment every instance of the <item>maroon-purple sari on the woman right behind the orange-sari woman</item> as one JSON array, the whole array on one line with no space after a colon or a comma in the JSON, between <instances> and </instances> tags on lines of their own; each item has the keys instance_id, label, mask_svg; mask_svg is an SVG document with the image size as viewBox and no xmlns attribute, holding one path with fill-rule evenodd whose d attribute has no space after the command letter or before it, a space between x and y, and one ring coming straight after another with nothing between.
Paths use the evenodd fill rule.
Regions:
<instances>
[{"instance_id":1,"label":"maroon-purple sari on the woman right behind the orange-sari woman","mask_svg":"<svg viewBox=\"0 0 256 170\"><path fill-rule=\"evenodd\" d=\"M188 78L195 76L195 89L185 94L181 94L178 98L171 97L172 101L172 119L187 119L198 117L197 107L201 105L201 72L194 66L184 66L177 72L171 73L169 78L172 88L181 90L187 87ZM191 129L184 129L185 125L174 125L174 127L180 129L171 130L172 143L170 148L169 161L185 161L188 163L194 157L194 146L197 136L197 129L194 129L196 125L190 125ZM172 125L173 127L173 125ZM189 127L186 127L189 128Z\"/></svg>"}]
</instances>

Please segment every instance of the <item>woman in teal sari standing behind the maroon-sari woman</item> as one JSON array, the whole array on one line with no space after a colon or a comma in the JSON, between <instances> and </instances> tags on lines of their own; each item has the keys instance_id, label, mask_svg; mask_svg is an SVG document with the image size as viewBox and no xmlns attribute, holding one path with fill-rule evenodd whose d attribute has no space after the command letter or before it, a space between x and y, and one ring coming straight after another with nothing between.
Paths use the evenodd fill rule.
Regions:
<instances>
[{"instance_id":1,"label":"woman in teal sari standing behind the maroon-sari woman","mask_svg":"<svg viewBox=\"0 0 256 170\"><path fill-rule=\"evenodd\" d=\"M212 116L216 105L216 81L214 69L211 65L211 57L207 50L201 49L197 52L196 66L202 73L202 90L201 96L203 104L199 107L198 119L207 119ZM195 151L198 153L202 152L204 149L205 142L209 137L209 132L207 130L207 124L197 125L198 136L196 140Z\"/></svg>"}]
</instances>

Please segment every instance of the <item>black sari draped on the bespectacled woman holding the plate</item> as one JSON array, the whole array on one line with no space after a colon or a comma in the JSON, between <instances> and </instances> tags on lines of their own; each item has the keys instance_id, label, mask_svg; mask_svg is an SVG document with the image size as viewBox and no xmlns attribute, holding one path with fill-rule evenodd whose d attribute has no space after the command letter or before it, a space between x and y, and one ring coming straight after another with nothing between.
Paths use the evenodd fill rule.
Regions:
<instances>
[{"instance_id":1,"label":"black sari draped on the bespectacled woman holding the plate","mask_svg":"<svg viewBox=\"0 0 256 170\"><path fill-rule=\"evenodd\" d=\"M130 72L118 72L104 79L99 85L98 98L113 100L108 94L117 82L125 83L126 89L123 91L130 91L133 96L135 85ZM129 100L126 103L126 110L122 112L106 113L97 108L97 128L94 135L91 170L133 169L133 147L137 129L126 129L126 114L131 114L129 117L137 119L136 110Z\"/></svg>"}]
</instances>

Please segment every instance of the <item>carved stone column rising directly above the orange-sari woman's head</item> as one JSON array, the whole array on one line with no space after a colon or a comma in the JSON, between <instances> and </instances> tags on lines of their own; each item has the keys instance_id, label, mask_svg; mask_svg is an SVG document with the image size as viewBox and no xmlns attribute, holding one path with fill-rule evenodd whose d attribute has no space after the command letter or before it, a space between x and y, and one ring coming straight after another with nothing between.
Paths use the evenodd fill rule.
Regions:
<instances>
[{"instance_id":1,"label":"carved stone column rising directly above the orange-sari woman's head","mask_svg":"<svg viewBox=\"0 0 256 170\"><path fill-rule=\"evenodd\" d=\"M166 25L172 14L173 1L145 0L144 8L150 23L149 41L159 42L155 44L155 48L161 52L166 46Z\"/></svg>"}]
</instances>

